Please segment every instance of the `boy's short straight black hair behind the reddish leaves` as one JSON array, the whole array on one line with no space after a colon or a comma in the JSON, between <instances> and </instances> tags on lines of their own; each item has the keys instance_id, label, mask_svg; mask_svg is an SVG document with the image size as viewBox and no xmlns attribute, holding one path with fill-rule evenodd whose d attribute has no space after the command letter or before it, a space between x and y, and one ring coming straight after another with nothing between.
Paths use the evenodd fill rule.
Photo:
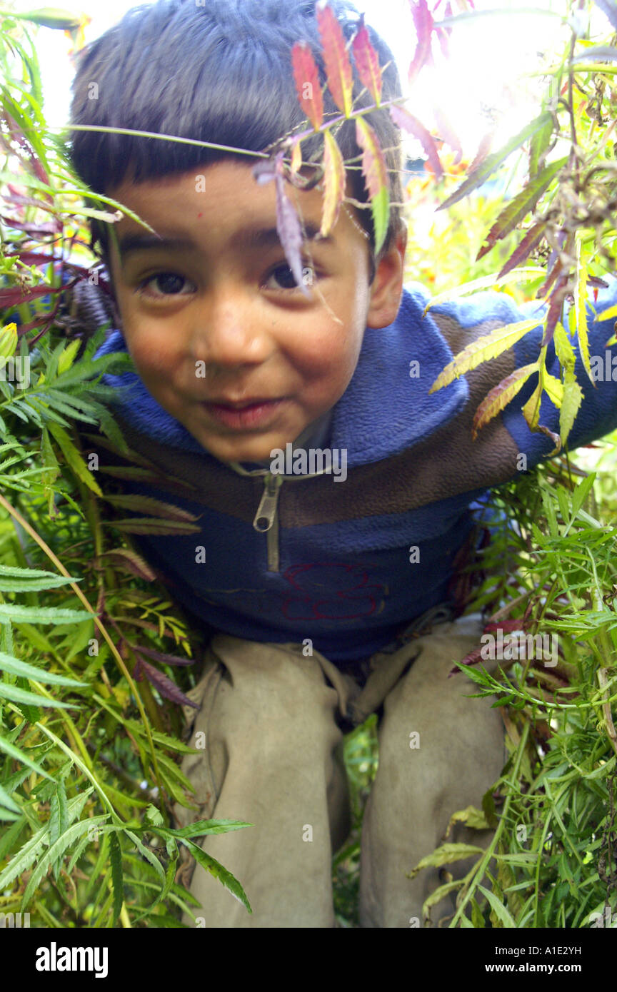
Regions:
<instances>
[{"instance_id":1,"label":"boy's short straight black hair behind the reddish leaves","mask_svg":"<svg viewBox=\"0 0 617 992\"><path fill-rule=\"evenodd\" d=\"M330 0L347 41L358 27L359 14L349 0ZM388 46L367 25L382 68L383 100L401 96L398 69ZM70 123L130 128L210 141L263 152L305 121L294 82L291 52L295 42L309 44L319 70L325 68L315 18L315 0L158 0L129 10L123 19L84 48L72 83ZM387 64L389 63L389 64ZM354 71L354 107L369 106ZM361 94L361 95L360 95ZM340 115L329 91L324 113ZM383 254L401 224L401 132L388 110L374 110L366 120L377 134L388 167L390 223ZM361 154L355 121L336 132L343 159ZM303 141L305 162L319 157L323 139ZM125 179L135 183L184 173L224 159L242 158L216 149L124 134L71 131L69 156L75 172L94 192L107 193ZM352 195L368 203L360 171L348 171ZM369 236L372 272L375 234L371 210L359 210ZM92 224L107 261L107 225Z\"/></svg>"}]
</instances>

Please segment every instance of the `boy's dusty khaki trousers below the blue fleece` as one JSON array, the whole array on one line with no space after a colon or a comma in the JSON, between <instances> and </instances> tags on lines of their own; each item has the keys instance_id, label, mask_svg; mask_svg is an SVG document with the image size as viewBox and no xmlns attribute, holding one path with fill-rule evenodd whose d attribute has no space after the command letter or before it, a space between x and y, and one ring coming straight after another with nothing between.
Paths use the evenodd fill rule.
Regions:
<instances>
[{"instance_id":1,"label":"boy's dusty khaki trousers below the blue fleece","mask_svg":"<svg viewBox=\"0 0 617 992\"><path fill-rule=\"evenodd\" d=\"M183 770L197 809L175 807L179 825L202 818L253 823L207 835L201 846L238 879L253 913L200 866L189 891L205 928L332 928L331 857L350 827L341 718L359 724L380 710L379 768L365 809L360 926L422 926L437 870L406 877L438 846L456 809L479 806L505 763L504 729L491 699L455 662L477 647L478 615L433 627L370 660L363 689L301 644L263 644L226 634L210 643L189 695L200 703ZM306 650L306 649L305 649ZM383 709L380 709L383 704ZM186 707L194 715L194 709ZM193 718L193 716L191 716ZM343 724L344 726L345 724ZM484 846L490 831L450 840ZM472 862L452 866L460 877ZM452 913L446 897L436 922ZM195 926L190 917L185 923Z\"/></svg>"}]
</instances>

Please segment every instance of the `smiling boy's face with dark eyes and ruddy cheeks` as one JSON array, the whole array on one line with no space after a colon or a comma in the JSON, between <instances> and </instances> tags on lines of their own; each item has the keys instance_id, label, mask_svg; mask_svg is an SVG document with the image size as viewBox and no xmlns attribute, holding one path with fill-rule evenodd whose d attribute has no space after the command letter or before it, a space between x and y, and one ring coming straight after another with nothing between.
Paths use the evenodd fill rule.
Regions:
<instances>
[{"instance_id":1,"label":"smiling boy's face with dark eyes and ruddy cheeks","mask_svg":"<svg viewBox=\"0 0 617 992\"><path fill-rule=\"evenodd\" d=\"M405 231L369 286L368 241L341 210L329 240L303 246L308 300L276 235L275 185L259 186L252 165L110 191L165 239L153 245L127 217L116 225L111 274L128 349L152 396L221 461L269 458L330 410L365 327L395 319L403 285ZM318 230L322 193L286 193Z\"/></svg>"}]
</instances>

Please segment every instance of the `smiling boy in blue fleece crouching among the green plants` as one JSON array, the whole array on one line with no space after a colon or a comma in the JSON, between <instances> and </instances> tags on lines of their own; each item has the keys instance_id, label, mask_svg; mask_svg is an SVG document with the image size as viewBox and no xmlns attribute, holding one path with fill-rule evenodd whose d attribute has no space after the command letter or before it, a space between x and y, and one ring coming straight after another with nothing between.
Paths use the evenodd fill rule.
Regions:
<instances>
[{"instance_id":1,"label":"smiling boy in blue fleece crouching among the green plants","mask_svg":"<svg viewBox=\"0 0 617 992\"><path fill-rule=\"evenodd\" d=\"M331 6L350 39L356 12ZM263 151L303 125L291 71L301 39L319 61L312 0L160 0L85 51L72 122ZM394 98L391 53L372 31L371 41L389 63L384 99ZM368 105L361 89L356 80L355 105ZM369 121L399 204L400 133L387 112ZM345 160L359 153L354 133L349 122L336 135ZM319 142L303 143L305 162ZM79 131L72 158L93 189L157 232L127 216L117 244L99 232L121 327L102 350L134 359L139 377L107 381L131 386L118 393L118 419L158 473L125 489L186 509L201 527L139 541L214 631L191 691L197 753L183 766L198 808L177 815L254 824L202 845L242 883L253 914L198 867L196 916L208 928L334 926L330 859L349 829L342 735L377 712L360 924L417 926L438 878L405 873L452 811L480 804L505 760L499 711L467 698L464 676L446 678L482 629L477 615L460 616L454 562L473 543L473 501L512 478L521 454L531 467L553 448L521 414L534 382L470 440L479 401L537 357L540 334L429 395L453 353L523 314L485 294L423 319L428 298L403 287L400 209L376 257L359 170L329 239L314 236L320 187L290 192L305 225L308 298L276 232L274 184L252 175L256 159ZM596 325L592 346L611 331ZM616 394L585 386L571 446L617 426ZM550 404L541 421L556 430ZM447 912L442 902L433 919Z\"/></svg>"}]
</instances>

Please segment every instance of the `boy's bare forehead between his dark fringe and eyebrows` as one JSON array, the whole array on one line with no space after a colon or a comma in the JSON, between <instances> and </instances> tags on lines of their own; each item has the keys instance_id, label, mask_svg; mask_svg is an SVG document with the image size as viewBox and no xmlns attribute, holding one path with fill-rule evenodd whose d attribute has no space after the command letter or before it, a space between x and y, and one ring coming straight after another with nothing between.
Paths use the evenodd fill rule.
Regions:
<instances>
[{"instance_id":1,"label":"boy's bare forehead between his dark fringe and eyebrows","mask_svg":"<svg viewBox=\"0 0 617 992\"><path fill-rule=\"evenodd\" d=\"M276 187L274 182L255 181L254 164L254 159L246 164L224 161L140 183L125 181L109 190L109 195L141 216L162 237L207 229L210 237L226 237L238 249L267 248L280 244ZM323 208L321 189L300 190L286 183L285 192L300 210L307 239L317 238ZM354 227L341 209L333 237L319 240L334 243L353 234L359 236ZM128 216L118 222L116 232L125 246L133 247L141 240L148 247L152 239Z\"/></svg>"}]
</instances>

